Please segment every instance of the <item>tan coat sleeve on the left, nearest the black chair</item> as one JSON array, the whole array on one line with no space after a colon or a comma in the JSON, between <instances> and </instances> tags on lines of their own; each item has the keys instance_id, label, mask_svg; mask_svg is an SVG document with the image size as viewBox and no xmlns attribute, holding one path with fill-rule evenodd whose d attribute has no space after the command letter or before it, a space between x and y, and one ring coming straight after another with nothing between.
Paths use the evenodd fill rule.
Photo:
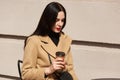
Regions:
<instances>
[{"instance_id":1,"label":"tan coat sleeve on the left, nearest the black chair","mask_svg":"<svg viewBox=\"0 0 120 80\"><path fill-rule=\"evenodd\" d=\"M37 46L36 39L27 39L22 65L23 80L45 80L44 68L37 65Z\"/></svg>"}]
</instances>

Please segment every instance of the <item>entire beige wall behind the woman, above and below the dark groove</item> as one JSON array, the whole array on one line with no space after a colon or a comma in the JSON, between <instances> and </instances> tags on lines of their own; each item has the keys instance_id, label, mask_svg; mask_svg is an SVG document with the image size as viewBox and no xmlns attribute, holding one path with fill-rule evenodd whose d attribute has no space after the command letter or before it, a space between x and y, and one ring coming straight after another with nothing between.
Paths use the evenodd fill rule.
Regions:
<instances>
[{"instance_id":1,"label":"entire beige wall behind the woman, above and below the dark groove","mask_svg":"<svg viewBox=\"0 0 120 80\"><path fill-rule=\"evenodd\" d=\"M30 35L45 5L53 0L1 0L0 34ZM120 77L120 1L58 0L68 13L64 31L73 40L101 43L72 44L79 80ZM113 47L104 46L106 43ZM0 74L18 77L17 60L23 57L23 40L0 38Z\"/></svg>"}]
</instances>

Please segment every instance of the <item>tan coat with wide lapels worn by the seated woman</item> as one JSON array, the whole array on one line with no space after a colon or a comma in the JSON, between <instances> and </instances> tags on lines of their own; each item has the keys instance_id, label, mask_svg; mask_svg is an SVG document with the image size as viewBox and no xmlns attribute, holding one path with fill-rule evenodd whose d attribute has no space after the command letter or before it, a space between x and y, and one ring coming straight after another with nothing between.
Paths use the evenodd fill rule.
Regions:
<instances>
[{"instance_id":1,"label":"tan coat with wide lapels worn by the seated woman","mask_svg":"<svg viewBox=\"0 0 120 80\"><path fill-rule=\"evenodd\" d=\"M66 70L70 72L74 80L78 80L73 70L72 55L70 51L71 41L72 40L65 34L61 34L58 46L52 42L49 36L29 37L23 57L23 80L54 80L52 75L48 76L46 79L44 77L45 68L50 66L46 51L54 57L57 51L65 52L65 60L67 62ZM51 57L51 59L53 60L54 58Z\"/></svg>"}]
</instances>

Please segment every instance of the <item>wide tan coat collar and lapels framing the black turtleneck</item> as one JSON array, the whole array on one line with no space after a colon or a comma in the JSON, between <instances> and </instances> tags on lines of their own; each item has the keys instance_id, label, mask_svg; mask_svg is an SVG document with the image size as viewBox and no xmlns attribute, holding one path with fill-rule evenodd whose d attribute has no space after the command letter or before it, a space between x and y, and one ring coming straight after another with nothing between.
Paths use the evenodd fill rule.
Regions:
<instances>
[{"instance_id":1,"label":"wide tan coat collar and lapels framing the black turtleneck","mask_svg":"<svg viewBox=\"0 0 120 80\"><path fill-rule=\"evenodd\" d=\"M60 35L59 43L57 46L53 43L53 41L50 39L49 36L44 36L44 37L40 36L40 40L41 40L41 46L44 48L44 50L46 50L53 57L56 56L55 53L57 51L63 51L67 53L71 44L71 39L64 34Z\"/></svg>"}]
</instances>

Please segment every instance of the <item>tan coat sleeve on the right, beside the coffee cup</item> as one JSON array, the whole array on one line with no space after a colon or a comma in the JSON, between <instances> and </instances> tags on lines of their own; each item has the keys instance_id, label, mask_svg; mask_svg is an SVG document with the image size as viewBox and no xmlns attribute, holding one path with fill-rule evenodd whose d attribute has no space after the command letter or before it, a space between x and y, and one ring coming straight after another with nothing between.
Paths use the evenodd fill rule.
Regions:
<instances>
[{"instance_id":1,"label":"tan coat sleeve on the right, beside the coffee cup","mask_svg":"<svg viewBox=\"0 0 120 80\"><path fill-rule=\"evenodd\" d=\"M73 80L78 80L75 71L74 71L74 65L73 65L73 58L72 58L72 53L71 49L69 49L67 55L66 55L66 62L67 62L67 71L72 75Z\"/></svg>"}]
</instances>

